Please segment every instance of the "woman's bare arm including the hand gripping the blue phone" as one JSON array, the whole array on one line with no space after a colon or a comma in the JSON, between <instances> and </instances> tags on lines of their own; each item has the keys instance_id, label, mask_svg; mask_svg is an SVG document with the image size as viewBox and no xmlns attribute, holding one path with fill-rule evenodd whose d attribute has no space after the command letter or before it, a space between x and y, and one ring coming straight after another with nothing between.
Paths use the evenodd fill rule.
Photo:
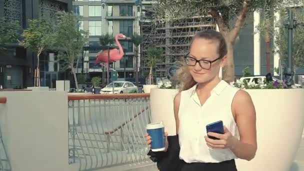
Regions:
<instances>
[{"instance_id":1,"label":"woman's bare arm including the hand gripping the blue phone","mask_svg":"<svg viewBox=\"0 0 304 171\"><path fill-rule=\"evenodd\" d=\"M205 136L206 143L214 149L230 148L238 158L251 160L255 156L257 148L255 109L251 97L246 91L237 91L232 101L231 111L238 128L239 139L232 136L230 131L224 127L224 134L208 132L208 135L219 139Z\"/></svg>"}]
</instances>

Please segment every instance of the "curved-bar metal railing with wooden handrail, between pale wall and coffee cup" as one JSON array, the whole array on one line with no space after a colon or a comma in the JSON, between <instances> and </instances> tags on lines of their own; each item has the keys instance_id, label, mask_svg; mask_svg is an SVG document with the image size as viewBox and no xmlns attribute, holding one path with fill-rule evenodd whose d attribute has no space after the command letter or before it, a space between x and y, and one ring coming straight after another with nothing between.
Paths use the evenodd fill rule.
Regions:
<instances>
[{"instance_id":1,"label":"curved-bar metal railing with wooden handrail, between pale wall and coffee cup","mask_svg":"<svg viewBox=\"0 0 304 171\"><path fill-rule=\"evenodd\" d=\"M148 161L149 94L68 95L69 162L94 170Z\"/></svg>"}]
</instances>

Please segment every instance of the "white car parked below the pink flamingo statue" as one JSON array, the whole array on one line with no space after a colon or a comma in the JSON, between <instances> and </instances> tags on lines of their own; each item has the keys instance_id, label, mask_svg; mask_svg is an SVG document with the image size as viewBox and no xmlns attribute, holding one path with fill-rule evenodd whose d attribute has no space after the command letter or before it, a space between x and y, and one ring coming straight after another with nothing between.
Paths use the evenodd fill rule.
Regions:
<instances>
[{"instance_id":1,"label":"white car parked below the pink flamingo statue","mask_svg":"<svg viewBox=\"0 0 304 171\"><path fill-rule=\"evenodd\" d=\"M110 82L104 88L100 90L100 94L112 94L114 85L114 94L118 93L137 93L138 87L129 81L114 81Z\"/></svg>"}]
</instances>

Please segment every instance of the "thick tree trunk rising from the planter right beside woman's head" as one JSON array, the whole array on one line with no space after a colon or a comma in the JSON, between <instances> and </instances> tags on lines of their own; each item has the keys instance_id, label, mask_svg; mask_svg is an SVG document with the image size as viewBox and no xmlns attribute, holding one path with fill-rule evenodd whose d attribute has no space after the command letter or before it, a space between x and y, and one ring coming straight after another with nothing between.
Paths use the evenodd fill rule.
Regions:
<instances>
[{"instance_id":1,"label":"thick tree trunk rising from the planter right beside woman's head","mask_svg":"<svg viewBox=\"0 0 304 171\"><path fill-rule=\"evenodd\" d=\"M233 43L227 41L227 59L223 67L223 80L230 83L234 81Z\"/></svg>"}]
</instances>

